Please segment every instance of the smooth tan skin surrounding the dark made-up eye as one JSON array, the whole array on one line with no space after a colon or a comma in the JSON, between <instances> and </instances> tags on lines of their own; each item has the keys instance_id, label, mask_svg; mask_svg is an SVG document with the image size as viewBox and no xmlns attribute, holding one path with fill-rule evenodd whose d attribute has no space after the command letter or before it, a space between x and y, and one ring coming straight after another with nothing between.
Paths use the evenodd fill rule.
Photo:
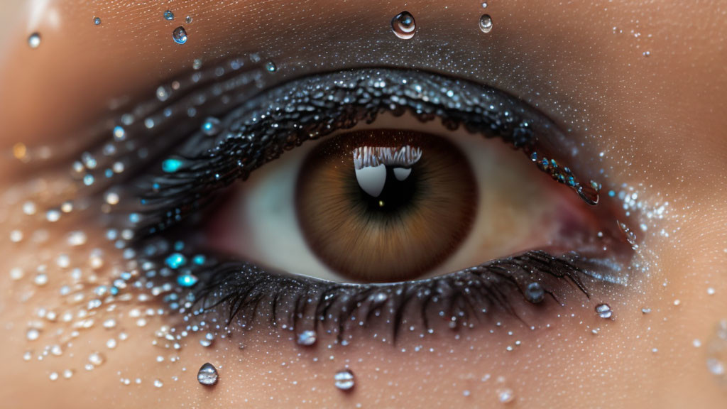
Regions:
<instances>
[{"instance_id":1,"label":"smooth tan skin surrounding the dark made-up eye","mask_svg":"<svg viewBox=\"0 0 727 409\"><path fill-rule=\"evenodd\" d=\"M154 331L171 325L171 319L153 317L137 327L127 317L134 308L127 303L119 306L119 322L129 339L113 351L103 346L110 333L95 325L61 357L23 362L26 350L53 343L44 331L48 338L31 344L25 331L38 308L59 303L52 274L61 273L49 272L52 281L41 289L31 284L31 272L20 282L0 274L0 402L19 408L497 407L497 390L507 386L515 394L513 408L726 405L724 383L707 371L707 348L693 346L694 339L709 343L715 324L727 318L727 9L722 2L501 0L485 10L478 1L449 7L445 1L86 3L49 1L31 27L28 7L18 6L15 24L4 25L0 147L7 154L0 162L0 190L22 184L31 170L12 159L15 143L56 146L65 138L72 150L75 132L103 116L108 100L150 95L159 81L190 67L193 58L257 51L273 57L281 73L302 75L390 65L398 56L399 65L454 71L499 87L538 106L575 137L592 135L585 138L587 149L605 152L597 166L608 170L608 182L635 187L648 205L669 202L668 215L643 234L640 257L651 266L648 277L635 271L627 288L596 292L590 300L569 295L566 306L544 311L537 330L506 322L494 334L483 325L459 339L442 331L396 346L362 334L350 346L329 349L321 342L303 350L289 341L289 332L260 330L235 334L232 341L218 339L206 349L188 338L188 346L174 353L151 345ZM174 23L161 18L166 8L174 9ZM389 28L390 18L403 9L419 25L408 42ZM483 11L494 20L489 34L477 26ZM56 27L49 17L54 13ZM92 25L94 15L102 17L101 26ZM171 33L185 15L194 21L185 24L188 44L179 46ZM43 35L39 49L25 43L32 31ZM457 63L464 60L477 67ZM71 156L58 160L70 163ZM33 169L38 163L31 162ZM42 246L29 239L9 242L18 223L25 223L28 235L34 228L9 217L18 204L8 204L8 196L0 218L0 271L14 266L33 271L39 259L59 253L87 266L89 249L102 242L100 230L73 221L46 226L51 238ZM92 244L69 249L63 237L71 229L85 229ZM659 229L669 237L651 234ZM109 251L107 263L118 257ZM715 295L707 294L708 287ZM20 301L28 289L35 294ZM598 301L611 304L614 321L595 316ZM643 307L651 314L642 314ZM591 333L595 327L598 335ZM507 352L515 340L522 345ZM239 343L245 349L239 350ZM414 352L414 346L422 350ZM85 357L94 350L103 351L107 362L87 372ZM158 355L164 362L156 362ZM174 356L180 360L170 362ZM220 368L220 384L213 389L196 382L196 370L208 361ZM356 389L348 394L334 389L332 379L345 365L356 373ZM49 381L49 373L65 368L75 368L73 378ZM491 378L482 381L486 374ZM119 381L136 377L142 384ZM164 381L160 389L152 384L156 378Z\"/></svg>"}]
</instances>

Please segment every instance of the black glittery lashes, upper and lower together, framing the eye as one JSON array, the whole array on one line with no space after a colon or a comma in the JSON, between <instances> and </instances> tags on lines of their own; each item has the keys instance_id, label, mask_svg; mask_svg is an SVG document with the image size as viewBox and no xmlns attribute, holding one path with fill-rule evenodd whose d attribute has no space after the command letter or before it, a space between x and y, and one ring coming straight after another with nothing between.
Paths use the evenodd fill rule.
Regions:
<instances>
[{"instance_id":1,"label":"black glittery lashes, upper and lower together, framing the eye","mask_svg":"<svg viewBox=\"0 0 727 409\"><path fill-rule=\"evenodd\" d=\"M242 65L230 63L232 71ZM224 70L220 73L219 69L208 72L220 78L225 74ZM129 136L135 134L147 137L122 138L127 151L119 156L125 158L127 163L138 159L132 155L141 151L152 154L139 154L144 159L139 162L158 163L150 160L149 156L158 156L164 151L159 141L166 140L166 135L172 140L166 141L167 145L181 144L173 156L167 157L181 161L181 166L174 172L148 168L144 172L142 164L134 167L137 175L122 183L122 186L129 191L126 196L140 198L140 203L132 204L127 200L125 206L119 206L124 212L117 211L111 215L115 218L111 222L113 226L135 231L131 245L137 249L139 265L150 284L158 281L158 277L168 283L175 274L177 278L192 275L198 279L193 287L180 285L166 297L172 309L191 315L227 309L226 322L230 323L236 318L249 320L241 322L242 327L249 327L259 315L269 314L270 322L275 325L278 322L295 328L302 325L313 327L316 331L325 328L326 332L335 332L343 339L345 322L356 311L369 309L366 317L359 317L360 325L368 325L372 318L382 314L388 303L387 311L393 316L382 321L393 325L393 337L396 338L403 322L409 317L404 314L405 310L414 309L414 301L419 303L419 317L424 327L429 329L432 314L430 307L439 309L437 314L454 318L457 326L462 319L467 321L468 318L479 317L491 310L517 315L513 294L519 294L521 300L534 301L533 294L528 299L527 290L527 285L534 282L539 283L543 295L555 299L555 292L564 285L564 281L575 284L586 295L586 281L617 281L610 278L613 274L602 273L607 263L605 259L587 258L576 253L555 257L545 252L523 253L441 277L391 285L341 285L307 277L293 278L270 274L249 263L217 262L214 261L214 255L209 257L209 262L190 264L178 271L164 267L164 257L169 254L169 242L164 236L172 235L167 230L179 225L189 215L196 214L197 210L211 201L212 194L238 178L247 178L249 172L276 159L283 151L300 145L305 139L321 138L336 130L353 127L360 121L373 122L384 111L395 115L409 111L422 122L439 118L451 129L465 126L471 133L480 133L486 138L499 137L523 151L554 180L574 188L587 203L598 202L600 186L597 183L583 185L569 167L558 165L553 159L545 159L545 156L552 156L550 151L571 151L572 143L542 114L498 90L465 80L394 69L322 74L281 84L261 93L258 93L257 87L247 89L255 79L259 81L261 75L260 71L253 68L240 76L220 79L222 84L214 79L203 84L201 78L204 77L197 72L193 74L197 79L188 82L197 84L190 85L191 90L185 90L188 95L177 100L169 99L167 95L165 100L172 102L169 106L153 102L140 104L134 110L134 116L137 117L150 115L148 118L166 118L152 119L152 126L148 126L148 120L145 120L148 132L164 132L164 135L148 138L148 133L138 131L138 123L125 130ZM184 87L177 85L176 89L184 90ZM169 94L169 87L164 91ZM231 97L235 92L246 98ZM204 98L200 95L204 95ZM211 96L215 99L210 100ZM228 96L227 100L220 104L220 99L225 96ZM291 102L291 96L297 97L296 103ZM364 96L368 99L364 98L366 101L361 102ZM301 103L302 100L305 103ZM174 113L180 111L179 106L189 106L190 103L196 106L198 113L220 116L228 112L219 124L222 132L208 135L199 130L200 121L191 118L180 119L183 126L174 127L175 131L182 132L165 132L169 124L165 127L164 121L174 118ZM172 109L170 106L177 108ZM240 108L230 109L230 106ZM293 109L286 111L285 106L292 106ZM486 108L483 109L483 106ZM189 112L189 109L186 110ZM124 116L121 118L124 122ZM189 125L193 122L197 124L196 131ZM137 127L136 132L134 126ZM180 140L180 134L191 135ZM248 135L256 135L256 138ZM150 146L153 143L156 146ZM99 163L94 169L100 172L103 166ZM93 172L87 169L86 175ZM109 179L100 187L110 185L113 178ZM183 229L185 226L177 227ZM182 251L182 247L175 250ZM188 248L185 253L190 251ZM158 266L162 267L157 275ZM377 293L387 294L387 301L371 308L374 301L366 300ZM181 306L180 300L183 301ZM440 307L447 303L448 307ZM304 314L308 309L315 311L315 314Z\"/></svg>"}]
</instances>

